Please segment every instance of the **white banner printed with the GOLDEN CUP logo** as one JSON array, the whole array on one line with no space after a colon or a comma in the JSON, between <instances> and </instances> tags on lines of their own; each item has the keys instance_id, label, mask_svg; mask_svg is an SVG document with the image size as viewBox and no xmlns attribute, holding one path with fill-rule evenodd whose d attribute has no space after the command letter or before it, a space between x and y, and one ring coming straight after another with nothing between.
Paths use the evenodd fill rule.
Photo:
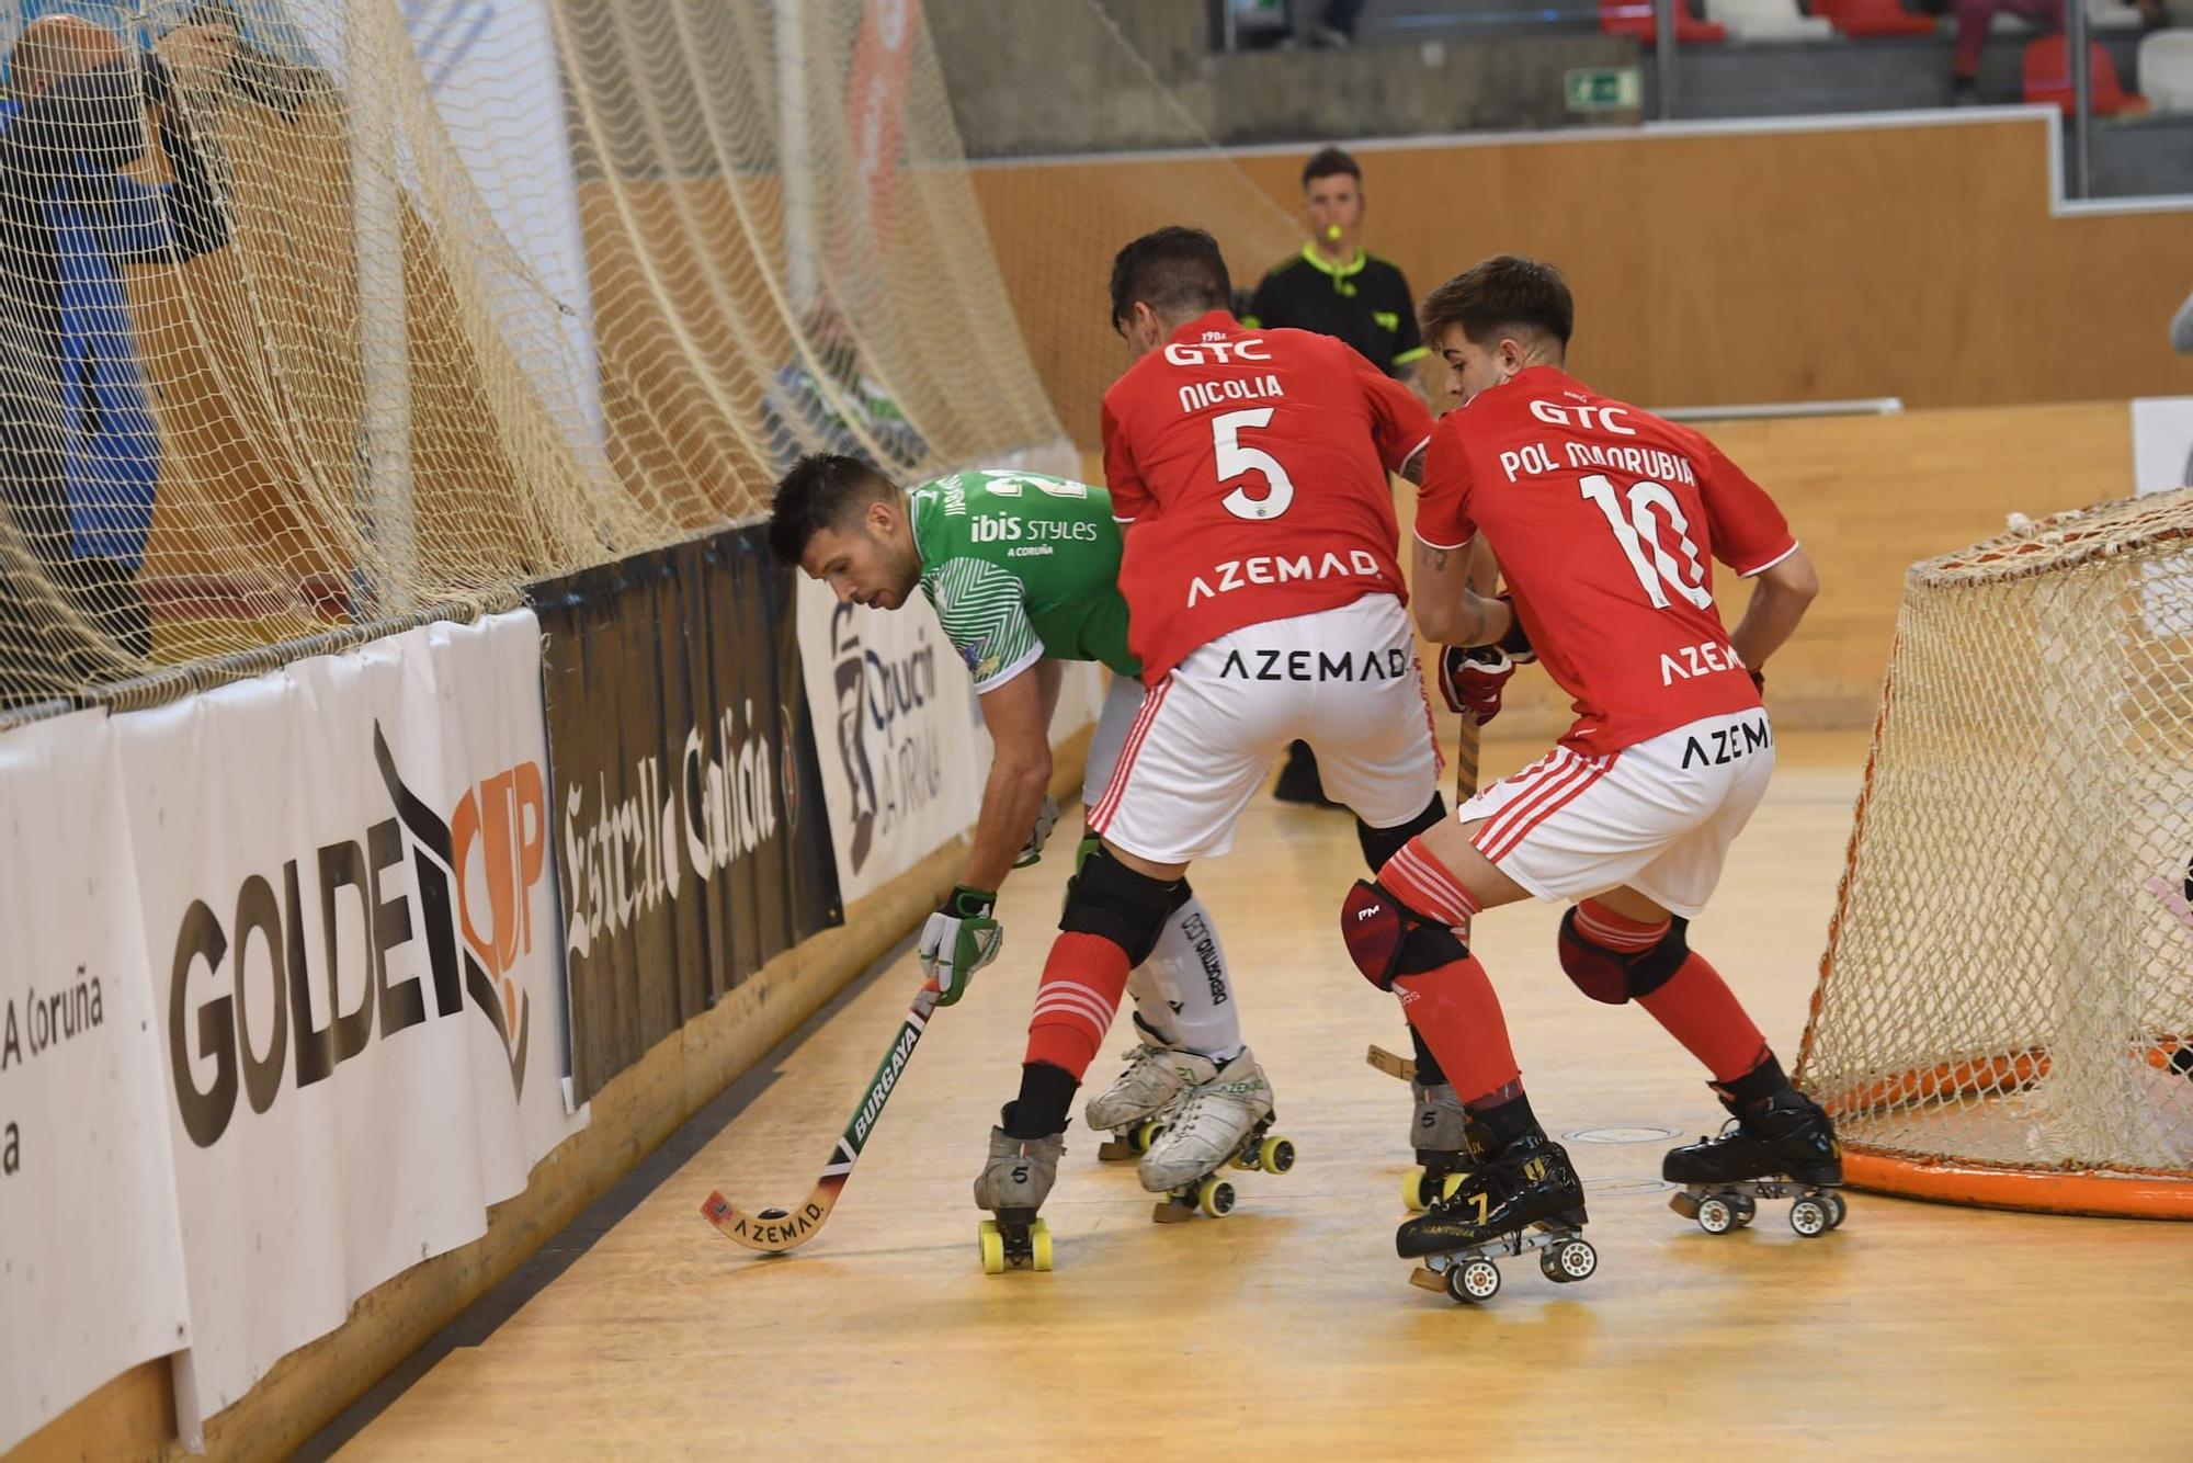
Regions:
<instances>
[{"instance_id":1,"label":"white banner printed with the GOLDEN CUP logo","mask_svg":"<svg viewBox=\"0 0 2193 1463\"><path fill-rule=\"evenodd\" d=\"M189 1277L186 1441L583 1125L531 612L112 719Z\"/></svg>"}]
</instances>

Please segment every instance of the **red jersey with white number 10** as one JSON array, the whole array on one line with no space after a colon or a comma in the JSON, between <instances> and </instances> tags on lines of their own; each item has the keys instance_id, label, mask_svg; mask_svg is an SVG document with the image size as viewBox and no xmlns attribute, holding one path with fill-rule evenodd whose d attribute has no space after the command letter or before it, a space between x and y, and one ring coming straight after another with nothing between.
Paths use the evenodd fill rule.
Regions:
<instances>
[{"instance_id":1,"label":"red jersey with white number 10","mask_svg":"<svg viewBox=\"0 0 2193 1463\"><path fill-rule=\"evenodd\" d=\"M1531 366L1432 432L1417 537L1485 529L1515 614L1577 724L1605 755L1759 706L1713 603L1713 559L1741 577L1796 553L1774 500L1697 432Z\"/></svg>"}]
</instances>

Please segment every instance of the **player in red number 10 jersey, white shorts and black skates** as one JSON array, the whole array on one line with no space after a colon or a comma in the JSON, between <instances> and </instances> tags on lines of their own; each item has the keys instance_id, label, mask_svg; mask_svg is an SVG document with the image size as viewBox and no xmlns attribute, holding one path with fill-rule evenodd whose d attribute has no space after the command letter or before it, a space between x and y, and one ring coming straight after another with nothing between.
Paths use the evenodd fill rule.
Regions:
<instances>
[{"instance_id":1,"label":"player in red number 10 jersey, white shorts and black skates","mask_svg":"<svg viewBox=\"0 0 2193 1463\"><path fill-rule=\"evenodd\" d=\"M1612 401L1561 371L1575 307L1550 265L1487 259L1423 303L1423 336L1463 406L1441 419L1417 513L1417 623L1450 645L1535 651L1577 722L1537 763L1417 838L1342 910L1351 954L1439 1053L1476 1130L1480 1167L1397 1235L1458 1298L1489 1294L1489 1255L1542 1248L1581 1279L1590 1248L1568 1154L1531 1114L1500 1002L1456 926L1524 897L1570 901L1561 967L1594 1000L1636 1000L1706 1068L1735 1123L1680 1147L1664 1176L1708 1228L1796 1195L1792 1224L1842 1220L1827 1114L1789 1086L1759 1029L1684 930L1730 840L1765 794L1774 733L1754 671L1818 592L1774 502L1697 432ZM1480 599L1463 548L1478 533L1511 601ZM1724 630L1713 562L1752 579ZM1783 1182L1789 1180L1789 1182ZM1708 1204L1702 1209L1702 1202ZM1553 1237L1546 1237L1553 1226Z\"/></svg>"}]
</instances>

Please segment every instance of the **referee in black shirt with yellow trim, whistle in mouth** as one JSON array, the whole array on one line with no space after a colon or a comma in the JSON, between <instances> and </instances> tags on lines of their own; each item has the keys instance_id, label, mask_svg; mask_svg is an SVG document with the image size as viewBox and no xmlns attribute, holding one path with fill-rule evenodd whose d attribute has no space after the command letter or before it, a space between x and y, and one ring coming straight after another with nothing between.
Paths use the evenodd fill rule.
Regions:
<instances>
[{"instance_id":1,"label":"referee in black shirt with yellow trim, whistle in mouth","mask_svg":"<svg viewBox=\"0 0 2193 1463\"><path fill-rule=\"evenodd\" d=\"M1309 243L1265 270L1241 322L1336 336L1379 371L1414 382L1417 362L1430 355L1417 333L1417 296L1399 265L1362 248L1364 173L1355 158L1325 147L1303 167L1303 217ZM1287 748L1272 794L1331 807L1307 744Z\"/></svg>"}]
</instances>

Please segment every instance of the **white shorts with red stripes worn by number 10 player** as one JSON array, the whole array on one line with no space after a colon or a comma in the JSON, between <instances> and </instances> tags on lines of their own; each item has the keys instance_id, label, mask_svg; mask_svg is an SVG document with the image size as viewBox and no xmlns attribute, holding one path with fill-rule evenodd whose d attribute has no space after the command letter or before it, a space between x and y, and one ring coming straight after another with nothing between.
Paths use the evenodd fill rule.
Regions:
<instances>
[{"instance_id":1,"label":"white shorts with red stripes worn by number 10 player","mask_svg":"<svg viewBox=\"0 0 2193 1463\"><path fill-rule=\"evenodd\" d=\"M1774 774L1765 711L1704 717L1583 757L1557 746L1456 809L1472 838L1539 899L1590 899L1629 886L1695 919Z\"/></svg>"}]
</instances>

